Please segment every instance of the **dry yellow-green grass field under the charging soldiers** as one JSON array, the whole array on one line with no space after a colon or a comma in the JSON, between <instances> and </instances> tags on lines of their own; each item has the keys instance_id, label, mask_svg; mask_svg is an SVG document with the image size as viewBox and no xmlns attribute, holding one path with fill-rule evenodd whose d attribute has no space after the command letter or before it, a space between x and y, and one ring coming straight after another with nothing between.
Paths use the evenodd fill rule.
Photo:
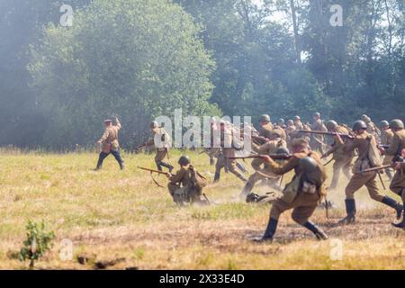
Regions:
<instances>
[{"instance_id":1,"label":"dry yellow-green grass field under the charging soldiers","mask_svg":"<svg viewBox=\"0 0 405 288\"><path fill-rule=\"evenodd\" d=\"M40 269L94 269L100 263L108 269L405 268L405 232L391 227L394 212L373 202L364 189L356 194L358 222L334 227L345 215L345 183L329 194L338 206L330 218L322 209L312 218L329 234L328 241L315 240L287 212L275 243L258 245L248 238L263 233L269 206L239 202L235 196L243 184L233 175L224 174L219 184L205 189L215 205L178 208L166 189L136 168L154 168L152 155L124 153L123 172L108 157L103 170L94 172L97 155L92 153L0 153L2 269L28 266L12 257L22 247L27 220L45 220L57 235L55 246L36 266ZM211 179L214 168L208 157L189 155ZM171 153L170 161L178 156ZM158 182L166 185L166 177ZM73 242L71 259L60 257L63 239Z\"/></svg>"}]
</instances>

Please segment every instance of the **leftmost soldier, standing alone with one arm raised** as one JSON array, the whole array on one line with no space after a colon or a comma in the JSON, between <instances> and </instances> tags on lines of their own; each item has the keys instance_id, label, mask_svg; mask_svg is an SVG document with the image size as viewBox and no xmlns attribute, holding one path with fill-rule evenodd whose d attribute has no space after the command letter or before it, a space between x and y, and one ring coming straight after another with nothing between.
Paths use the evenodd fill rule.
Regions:
<instances>
[{"instance_id":1,"label":"leftmost soldier, standing alone with one arm raised","mask_svg":"<svg viewBox=\"0 0 405 288\"><path fill-rule=\"evenodd\" d=\"M118 131L121 130L121 122L118 118L115 118L115 123L115 125L112 125L111 120L104 121L105 129L103 136L97 141L97 144L101 148L101 152L98 157L97 166L94 169L95 171L102 168L105 157L110 154L115 157L121 170L124 169L124 163L120 155L120 143L118 142Z\"/></svg>"}]
</instances>

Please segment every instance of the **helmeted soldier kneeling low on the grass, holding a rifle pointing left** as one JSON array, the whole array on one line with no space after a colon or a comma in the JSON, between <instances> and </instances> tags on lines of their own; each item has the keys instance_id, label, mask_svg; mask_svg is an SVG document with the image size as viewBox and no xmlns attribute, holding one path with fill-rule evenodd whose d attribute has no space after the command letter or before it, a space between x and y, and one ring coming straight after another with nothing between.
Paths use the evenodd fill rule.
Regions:
<instances>
[{"instance_id":1,"label":"helmeted soldier kneeling low on the grass, holding a rifle pointing left","mask_svg":"<svg viewBox=\"0 0 405 288\"><path fill-rule=\"evenodd\" d=\"M207 185L207 179L191 165L190 157L182 156L178 160L180 170L175 175L167 174L169 193L180 206L185 203L208 204L202 200L202 188Z\"/></svg>"}]
</instances>

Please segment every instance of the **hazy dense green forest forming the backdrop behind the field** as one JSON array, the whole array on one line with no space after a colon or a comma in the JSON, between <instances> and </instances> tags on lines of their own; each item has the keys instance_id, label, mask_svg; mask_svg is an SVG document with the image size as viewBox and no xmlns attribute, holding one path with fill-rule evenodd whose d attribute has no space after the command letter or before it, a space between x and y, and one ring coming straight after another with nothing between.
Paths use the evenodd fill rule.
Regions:
<instances>
[{"instance_id":1,"label":"hazy dense green forest forming the backdrop behind the field","mask_svg":"<svg viewBox=\"0 0 405 288\"><path fill-rule=\"evenodd\" d=\"M130 148L175 108L404 119L404 38L403 0L2 0L0 145L92 145L117 115Z\"/></svg>"}]
</instances>

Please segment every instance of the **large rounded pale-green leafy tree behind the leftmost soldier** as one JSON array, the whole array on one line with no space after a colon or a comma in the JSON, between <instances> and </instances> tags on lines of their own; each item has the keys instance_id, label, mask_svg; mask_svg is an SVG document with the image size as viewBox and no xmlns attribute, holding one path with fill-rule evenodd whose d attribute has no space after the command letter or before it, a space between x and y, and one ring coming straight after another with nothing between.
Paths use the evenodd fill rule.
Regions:
<instances>
[{"instance_id":1,"label":"large rounded pale-green leafy tree behind the leftmost soldier","mask_svg":"<svg viewBox=\"0 0 405 288\"><path fill-rule=\"evenodd\" d=\"M120 116L122 142L137 145L159 115L218 114L208 103L214 61L199 29L166 0L97 0L75 23L49 24L32 49L32 85L46 115L45 143L88 145L103 118Z\"/></svg>"}]
</instances>

